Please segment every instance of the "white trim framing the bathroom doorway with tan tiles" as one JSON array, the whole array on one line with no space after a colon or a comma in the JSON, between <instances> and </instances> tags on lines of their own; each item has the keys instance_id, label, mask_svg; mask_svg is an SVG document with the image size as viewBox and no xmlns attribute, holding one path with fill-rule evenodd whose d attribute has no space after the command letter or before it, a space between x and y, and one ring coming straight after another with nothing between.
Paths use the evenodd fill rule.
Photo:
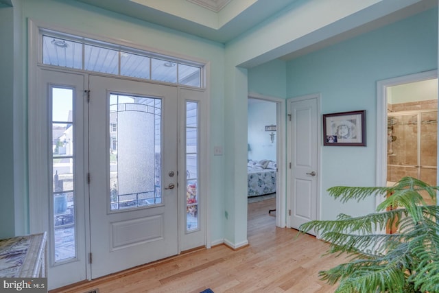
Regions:
<instances>
[{"instance_id":1,"label":"white trim framing the bathroom doorway with tan tiles","mask_svg":"<svg viewBox=\"0 0 439 293\"><path fill-rule=\"evenodd\" d=\"M385 186L387 178L387 89L390 86L420 82L438 77L437 70L423 71L410 75L379 80L377 82L377 177L376 186ZM376 198L375 207L382 202L383 198Z\"/></svg>"}]
</instances>

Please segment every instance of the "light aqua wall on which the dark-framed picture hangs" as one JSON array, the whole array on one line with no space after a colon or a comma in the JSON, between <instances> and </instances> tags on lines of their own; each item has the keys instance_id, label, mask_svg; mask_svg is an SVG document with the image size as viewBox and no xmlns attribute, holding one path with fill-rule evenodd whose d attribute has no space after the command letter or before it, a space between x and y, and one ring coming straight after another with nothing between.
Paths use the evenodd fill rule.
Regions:
<instances>
[{"instance_id":1,"label":"light aqua wall on which the dark-framed picture hangs","mask_svg":"<svg viewBox=\"0 0 439 293\"><path fill-rule=\"evenodd\" d=\"M287 63L288 97L320 93L322 114L366 110L367 147L321 147L323 219L375 208L372 199L342 205L326 190L375 185L377 81L436 69L437 44L438 10L433 9Z\"/></svg>"}]
</instances>

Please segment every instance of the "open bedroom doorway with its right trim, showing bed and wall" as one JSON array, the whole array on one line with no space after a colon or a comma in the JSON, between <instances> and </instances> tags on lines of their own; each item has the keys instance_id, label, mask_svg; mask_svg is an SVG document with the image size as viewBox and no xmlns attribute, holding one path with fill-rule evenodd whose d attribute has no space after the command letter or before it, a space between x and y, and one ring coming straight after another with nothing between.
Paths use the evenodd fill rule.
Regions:
<instances>
[{"instance_id":1,"label":"open bedroom doorway with its right trim, showing bed and wall","mask_svg":"<svg viewBox=\"0 0 439 293\"><path fill-rule=\"evenodd\" d=\"M278 217L285 207L280 206L284 191L281 182L283 121L281 109L285 101L273 97L248 97L248 203L270 202L266 213L276 218L276 226L285 226ZM272 199L275 200L272 200Z\"/></svg>"}]
</instances>

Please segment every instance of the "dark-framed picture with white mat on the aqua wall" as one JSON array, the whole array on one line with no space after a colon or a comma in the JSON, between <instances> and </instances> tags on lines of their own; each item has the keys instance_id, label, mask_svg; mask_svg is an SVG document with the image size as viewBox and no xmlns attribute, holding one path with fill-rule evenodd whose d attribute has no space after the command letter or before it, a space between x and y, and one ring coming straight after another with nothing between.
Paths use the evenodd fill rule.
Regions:
<instances>
[{"instance_id":1,"label":"dark-framed picture with white mat on the aqua wall","mask_svg":"<svg viewBox=\"0 0 439 293\"><path fill-rule=\"evenodd\" d=\"M323 145L366 146L366 110L324 114Z\"/></svg>"}]
</instances>

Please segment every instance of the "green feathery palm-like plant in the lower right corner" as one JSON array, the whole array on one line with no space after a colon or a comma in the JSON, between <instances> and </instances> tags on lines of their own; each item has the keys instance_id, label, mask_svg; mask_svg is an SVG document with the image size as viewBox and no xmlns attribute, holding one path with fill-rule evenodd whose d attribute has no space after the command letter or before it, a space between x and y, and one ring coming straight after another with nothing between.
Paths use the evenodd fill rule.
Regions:
<instances>
[{"instance_id":1,"label":"green feathery palm-like plant in the lower right corner","mask_svg":"<svg viewBox=\"0 0 439 293\"><path fill-rule=\"evenodd\" d=\"M346 255L346 263L320 271L322 280L337 283L337 293L439 292L439 207L426 204L422 194L436 200L439 187L405 177L392 187L331 187L333 198L361 201L388 196L375 213L360 217L340 214L336 220L302 224L329 243L327 253ZM398 227L386 233L386 227Z\"/></svg>"}]
</instances>

